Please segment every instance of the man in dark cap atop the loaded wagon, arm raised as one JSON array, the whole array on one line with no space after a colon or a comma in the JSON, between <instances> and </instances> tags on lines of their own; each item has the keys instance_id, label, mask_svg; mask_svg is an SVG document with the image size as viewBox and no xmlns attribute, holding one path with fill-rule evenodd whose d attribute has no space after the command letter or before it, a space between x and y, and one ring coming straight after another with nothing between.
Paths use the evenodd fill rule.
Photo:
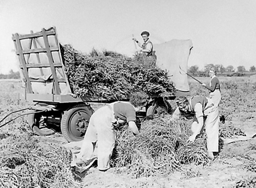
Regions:
<instances>
[{"instance_id":1,"label":"man in dark cap atop the loaded wagon, arm raised","mask_svg":"<svg viewBox=\"0 0 256 188\"><path fill-rule=\"evenodd\" d=\"M147 31L143 31L141 33L141 36L143 38L143 41L144 43L141 44L139 43L139 41L135 38L133 38L133 40L138 44L138 46L141 48L141 49L138 49L138 52L142 52L144 55L146 56L153 56L152 55L152 52L153 52L153 44L151 43L151 41L149 40L149 32Z\"/></svg>"}]
</instances>

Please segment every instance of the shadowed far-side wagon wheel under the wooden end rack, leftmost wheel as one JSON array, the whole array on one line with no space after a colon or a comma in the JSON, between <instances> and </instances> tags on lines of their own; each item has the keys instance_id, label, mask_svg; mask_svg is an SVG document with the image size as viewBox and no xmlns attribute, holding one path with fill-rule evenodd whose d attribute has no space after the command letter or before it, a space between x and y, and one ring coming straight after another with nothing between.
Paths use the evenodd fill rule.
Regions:
<instances>
[{"instance_id":1,"label":"shadowed far-side wagon wheel under the wooden end rack, leftmost wheel","mask_svg":"<svg viewBox=\"0 0 256 188\"><path fill-rule=\"evenodd\" d=\"M36 112L36 110L31 110L30 112ZM53 135L56 132L55 129L48 125L46 119L44 112L27 115L27 122L30 128L38 136Z\"/></svg>"}]
</instances>

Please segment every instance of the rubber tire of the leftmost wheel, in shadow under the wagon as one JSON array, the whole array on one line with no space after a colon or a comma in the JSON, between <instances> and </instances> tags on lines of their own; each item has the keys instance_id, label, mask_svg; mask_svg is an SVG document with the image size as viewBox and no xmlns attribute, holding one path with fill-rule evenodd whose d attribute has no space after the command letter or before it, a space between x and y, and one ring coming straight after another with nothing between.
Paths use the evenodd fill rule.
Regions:
<instances>
[{"instance_id":1,"label":"rubber tire of the leftmost wheel, in shadow under the wagon","mask_svg":"<svg viewBox=\"0 0 256 188\"><path fill-rule=\"evenodd\" d=\"M35 111L36 110L31 110L30 112L35 112ZM56 132L55 129L51 129L47 127L39 128L39 124L36 124L36 118L40 117L42 113L28 114L27 115L28 125L30 126L30 128L32 129L35 135L38 135L38 136L53 135Z\"/></svg>"}]
</instances>

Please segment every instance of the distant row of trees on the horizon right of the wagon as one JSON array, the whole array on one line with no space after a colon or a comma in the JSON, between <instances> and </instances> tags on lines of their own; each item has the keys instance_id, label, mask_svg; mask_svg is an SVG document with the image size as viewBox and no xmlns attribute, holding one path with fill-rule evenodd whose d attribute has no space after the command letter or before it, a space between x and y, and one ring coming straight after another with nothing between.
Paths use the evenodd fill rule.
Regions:
<instances>
[{"instance_id":1,"label":"distant row of trees on the horizon right of the wagon","mask_svg":"<svg viewBox=\"0 0 256 188\"><path fill-rule=\"evenodd\" d=\"M193 65L190 68L188 68L188 73L192 73L194 76L208 76L208 72L210 68L214 68L217 73L233 73L237 74L236 76L239 76L245 72L256 72L255 66L251 66L249 71L245 69L245 66L237 66L237 72L234 66L229 65L226 68L223 65L213 65L213 64L207 64L204 66L203 70L199 70L199 67L197 65ZM235 75L234 75L235 76Z\"/></svg>"}]
</instances>

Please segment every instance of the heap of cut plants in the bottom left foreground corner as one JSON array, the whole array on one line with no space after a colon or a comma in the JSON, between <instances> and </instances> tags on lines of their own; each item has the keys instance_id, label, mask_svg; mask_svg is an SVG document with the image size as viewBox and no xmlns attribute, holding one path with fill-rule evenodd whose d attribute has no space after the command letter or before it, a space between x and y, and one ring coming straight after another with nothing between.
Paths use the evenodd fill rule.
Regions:
<instances>
[{"instance_id":1,"label":"heap of cut plants in the bottom left foreground corner","mask_svg":"<svg viewBox=\"0 0 256 188\"><path fill-rule=\"evenodd\" d=\"M70 170L72 154L29 133L0 143L0 187L78 187Z\"/></svg>"}]
</instances>

